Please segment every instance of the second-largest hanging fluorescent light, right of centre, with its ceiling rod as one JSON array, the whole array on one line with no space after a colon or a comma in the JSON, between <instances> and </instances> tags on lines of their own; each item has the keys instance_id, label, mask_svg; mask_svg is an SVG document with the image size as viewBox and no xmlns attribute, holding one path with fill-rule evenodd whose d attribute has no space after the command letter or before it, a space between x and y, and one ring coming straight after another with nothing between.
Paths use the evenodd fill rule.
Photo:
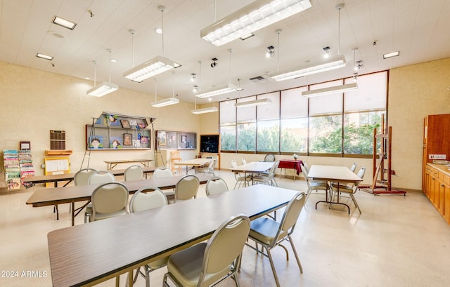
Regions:
<instances>
[{"instance_id":1,"label":"second-largest hanging fluorescent light, right of centre, with its ceiling rod","mask_svg":"<svg viewBox=\"0 0 450 287\"><path fill-rule=\"evenodd\" d=\"M344 4L338 4L335 6L335 9L339 11L339 20L338 20L338 56L329 57L321 62L309 63L307 65L298 67L294 71L283 71L276 72L271 75L272 79L276 81L285 81L288 79L300 78L301 76L307 76L310 74L317 74L321 72L330 71L332 69L339 69L341 67L345 67L347 62L345 60L344 55L340 55L340 11L344 8Z\"/></svg>"}]
</instances>

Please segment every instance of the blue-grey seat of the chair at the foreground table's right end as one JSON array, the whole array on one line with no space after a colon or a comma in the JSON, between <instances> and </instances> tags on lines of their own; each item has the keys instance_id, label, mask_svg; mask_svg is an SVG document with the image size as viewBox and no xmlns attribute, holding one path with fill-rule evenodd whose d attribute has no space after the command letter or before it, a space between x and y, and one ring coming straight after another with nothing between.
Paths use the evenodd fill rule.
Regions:
<instances>
[{"instance_id":1,"label":"blue-grey seat of the chair at the foreground table's right end","mask_svg":"<svg viewBox=\"0 0 450 287\"><path fill-rule=\"evenodd\" d=\"M274 241L276 232L280 228L280 223L269 218L257 218L250 223L249 236L257 239L266 245L270 245ZM280 232L278 238L283 238L287 235L287 232Z\"/></svg>"}]
</instances>

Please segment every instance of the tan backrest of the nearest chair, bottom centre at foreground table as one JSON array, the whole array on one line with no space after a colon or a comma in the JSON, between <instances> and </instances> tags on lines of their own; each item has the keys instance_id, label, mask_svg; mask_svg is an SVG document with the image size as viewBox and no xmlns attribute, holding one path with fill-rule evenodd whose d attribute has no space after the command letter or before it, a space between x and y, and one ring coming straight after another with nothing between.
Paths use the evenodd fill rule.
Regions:
<instances>
[{"instance_id":1,"label":"tan backrest of the nearest chair, bottom centre at foreground table","mask_svg":"<svg viewBox=\"0 0 450 287\"><path fill-rule=\"evenodd\" d=\"M240 257L249 232L250 219L243 214L233 216L220 225L207 242L203 271L197 286L203 286L201 282L206 281L209 274L226 269Z\"/></svg>"}]
</instances>

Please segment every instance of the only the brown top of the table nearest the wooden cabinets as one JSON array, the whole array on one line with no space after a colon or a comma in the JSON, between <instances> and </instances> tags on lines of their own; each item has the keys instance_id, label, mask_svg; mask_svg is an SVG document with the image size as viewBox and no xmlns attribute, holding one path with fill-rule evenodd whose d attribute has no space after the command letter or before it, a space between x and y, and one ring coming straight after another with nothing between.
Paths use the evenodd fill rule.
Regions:
<instances>
[{"instance_id":1,"label":"only the brown top of the table nearest the wooden cabinets","mask_svg":"<svg viewBox=\"0 0 450 287\"><path fill-rule=\"evenodd\" d=\"M350 171L347 166L318 166L309 168L308 178L313 180L333 181L333 182L360 182L358 175Z\"/></svg>"}]
</instances>

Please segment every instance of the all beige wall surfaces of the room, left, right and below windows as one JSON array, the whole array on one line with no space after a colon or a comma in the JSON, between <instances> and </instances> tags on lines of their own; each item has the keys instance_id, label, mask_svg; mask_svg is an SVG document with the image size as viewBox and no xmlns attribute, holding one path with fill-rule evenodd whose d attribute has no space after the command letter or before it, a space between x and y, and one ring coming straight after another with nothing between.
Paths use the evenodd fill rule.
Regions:
<instances>
[{"instance_id":1,"label":"all beige wall surfaces of the room, left, right and below windows","mask_svg":"<svg viewBox=\"0 0 450 287\"><path fill-rule=\"evenodd\" d=\"M37 175L44 173L39 166L44 162L45 150L49 149L50 130L66 131L67 148L73 150L71 168L77 171L84 158L84 126L91 124L91 118L103 111L155 117L156 130L197 132L198 140L200 134L219 132L219 113L191 114L191 103L180 102L179 105L158 109L150 106L153 95L123 88L103 98L93 98L86 95L92 87L91 81L5 62L0 62L0 74L0 149L17 148L20 140L30 140ZM393 187L421 188L423 118L428 114L450 113L449 86L450 58L390 71L388 125L392 126L392 168L397 173L392 178ZM179 121L180 118L183 120ZM181 156L193 158L196 153L184 152ZM105 169L104 160L142 157L153 159L153 148L145 151L93 151L89 166ZM264 159L262 154L222 153L221 168L229 168L231 159L240 162L242 157L248 161ZM310 165L351 166L357 162L358 166L367 168L364 182L372 181L371 159L306 157L304 160ZM3 165L0 169L0 187L4 187Z\"/></svg>"}]
</instances>

